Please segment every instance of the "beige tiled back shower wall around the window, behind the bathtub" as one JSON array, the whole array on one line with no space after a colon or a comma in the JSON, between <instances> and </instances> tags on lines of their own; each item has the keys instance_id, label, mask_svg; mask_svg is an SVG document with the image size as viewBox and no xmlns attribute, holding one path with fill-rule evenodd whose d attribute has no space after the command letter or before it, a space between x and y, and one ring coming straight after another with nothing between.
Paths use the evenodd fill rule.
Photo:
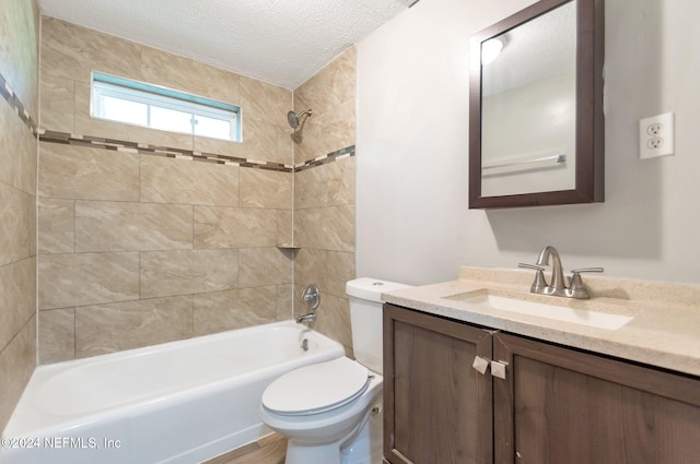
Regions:
<instances>
[{"instance_id":1,"label":"beige tiled back shower wall around the window, behind the bathtub","mask_svg":"<svg viewBox=\"0 0 700 464\"><path fill-rule=\"evenodd\" d=\"M292 92L43 17L39 361L289 319ZM102 71L237 104L243 143L90 117Z\"/></svg>"}]
</instances>

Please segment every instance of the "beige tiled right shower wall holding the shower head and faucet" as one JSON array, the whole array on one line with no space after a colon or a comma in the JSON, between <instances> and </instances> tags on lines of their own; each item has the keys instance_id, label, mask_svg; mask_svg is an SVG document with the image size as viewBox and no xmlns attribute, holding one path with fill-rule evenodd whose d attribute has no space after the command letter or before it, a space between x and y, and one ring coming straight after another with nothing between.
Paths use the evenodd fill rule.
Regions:
<instances>
[{"instance_id":1,"label":"beige tiled right shower wall holding the shower head and faucet","mask_svg":"<svg viewBox=\"0 0 700 464\"><path fill-rule=\"evenodd\" d=\"M345 292L354 278L354 47L294 91L294 109L311 108L294 146L295 312L306 312L302 289L318 285L315 329L352 346Z\"/></svg>"}]
</instances>

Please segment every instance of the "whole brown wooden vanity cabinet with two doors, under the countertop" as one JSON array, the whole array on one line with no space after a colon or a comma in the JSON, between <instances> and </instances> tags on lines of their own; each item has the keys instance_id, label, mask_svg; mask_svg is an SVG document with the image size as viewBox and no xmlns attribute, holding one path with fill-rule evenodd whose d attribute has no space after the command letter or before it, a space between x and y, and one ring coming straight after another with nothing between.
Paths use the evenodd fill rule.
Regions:
<instances>
[{"instance_id":1,"label":"whole brown wooden vanity cabinet with two doors, under the countertop","mask_svg":"<svg viewBox=\"0 0 700 464\"><path fill-rule=\"evenodd\" d=\"M695 377L392 305L384 350L387 463L700 463Z\"/></svg>"}]
</instances>

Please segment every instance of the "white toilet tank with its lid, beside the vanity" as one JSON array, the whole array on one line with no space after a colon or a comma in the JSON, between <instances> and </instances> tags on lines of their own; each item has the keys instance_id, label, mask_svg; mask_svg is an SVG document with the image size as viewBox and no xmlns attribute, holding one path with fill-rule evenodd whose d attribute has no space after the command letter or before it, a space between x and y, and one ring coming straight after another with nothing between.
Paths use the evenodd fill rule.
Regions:
<instances>
[{"instance_id":1,"label":"white toilet tank with its lid, beside the vanity","mask_svg":"<svg viewBox=\"0 0 700 464\"><path fill-rule=\"evenodd\" d=\"M374 372L383 370L382 294L410 285L378 278L362 277L349 281L346 293L350 297L352 350L355 359Z\"/></svg>"}]
</instances>

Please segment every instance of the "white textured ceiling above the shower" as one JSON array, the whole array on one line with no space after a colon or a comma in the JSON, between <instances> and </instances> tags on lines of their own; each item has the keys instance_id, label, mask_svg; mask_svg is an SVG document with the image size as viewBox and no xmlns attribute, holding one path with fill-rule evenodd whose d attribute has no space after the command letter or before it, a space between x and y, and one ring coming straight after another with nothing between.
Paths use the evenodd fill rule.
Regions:
<instances>
[{"instance_id":1,"label":"white textured ceiling above the shower","mask_svg":"<svg viewBox=\"0 0 700 464\"><path fill-rule=\"evenodd\" d=\"M415 1L39 0L39 9L294 90Z\"/></svg>"}]
</instances>

